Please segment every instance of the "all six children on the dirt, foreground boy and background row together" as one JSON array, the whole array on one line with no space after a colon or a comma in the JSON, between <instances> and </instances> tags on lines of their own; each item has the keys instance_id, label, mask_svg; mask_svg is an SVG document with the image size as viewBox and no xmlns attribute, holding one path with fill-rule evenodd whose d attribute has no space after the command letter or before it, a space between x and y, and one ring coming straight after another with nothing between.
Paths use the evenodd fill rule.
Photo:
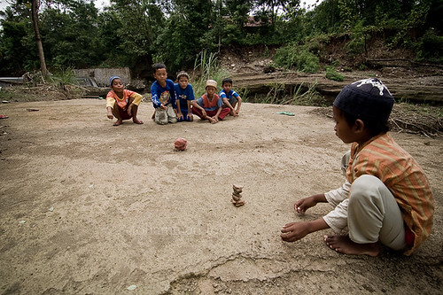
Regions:
<instances>
[{"instance_id":1,"label":"all six children on the dirt, foreground boy and background row together","mask_svg":"<svg viewBox=\"0 0 443 295\"><path fill-rule=\"evenodd\" d=\"M159 124L192 120L192 114L216 123L239 113L241 98L231 89L231 80L223 80L219 95L217 82L208 80L206 94L195 99L188 74L178 74L174 84L167 79L166 67L157 64L154 76L152 103ZM131 117L142 124L136 118L141 96L123 89L116 77L110 82L113 90L107 110L110 119L117 118L114 125ZM392 94L377 79L354 82L338 94L333 104L334 130L345 144L351 144L342 159L346 182L337 190L299 199L294 205L297 213L321 202L334 209L314 221L285 224L284 241L332 229L336 234L323 237L330 249L377 256L382 245L409 255L429 237L434 213L431 187L416 160L388 132L393 103Z\"/></svg>"}]
</instances>

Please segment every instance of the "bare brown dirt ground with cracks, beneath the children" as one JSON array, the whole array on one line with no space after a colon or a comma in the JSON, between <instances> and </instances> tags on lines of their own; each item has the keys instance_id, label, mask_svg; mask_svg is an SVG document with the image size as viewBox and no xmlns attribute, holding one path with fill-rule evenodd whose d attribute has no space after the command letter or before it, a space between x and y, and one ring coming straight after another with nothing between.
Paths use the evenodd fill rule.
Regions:
<instances>
[{"instance_id":1,"label":"bare brown dirt ground with cracks, beneath the children","mask_svg":"<svg viewBox=\"0 0 443 295\"><path fill-rule=\"evenodd\" d=\"M29 112L27 109L38 111ZM295 116L278 114L292 112ZM313 220L293 203L344 181L348 149L315 107L244 104L218 124L113 127L105 101L0 105L2 294L437 294L443 289L440 136L394 133L424 167L436 201L431 236L411 257L354 257L324 230L284 243ZM177 137L188 139L175 151ZM230 203L244 186L245 206ZM134 289L129 291L128 289Z\"/></svg>"}]
</instances>

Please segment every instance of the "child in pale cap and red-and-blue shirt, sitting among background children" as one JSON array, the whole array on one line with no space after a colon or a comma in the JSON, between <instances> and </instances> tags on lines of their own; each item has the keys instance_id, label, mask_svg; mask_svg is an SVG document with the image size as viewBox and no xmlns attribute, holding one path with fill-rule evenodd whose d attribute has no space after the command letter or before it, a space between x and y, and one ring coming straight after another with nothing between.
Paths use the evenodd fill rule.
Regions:
<instances>
[{"instance_id":1,"label":"child in pale cap and red-and-blue shirt, sitting among background children","mask_svg":"<svg viewBox=\"0 0 443 295\"><path fill-rule=\"evenodd\" d=\"M223 120L229 114L229 108L222 108L223 102L221 97L215 94L217 91L217 82L214 80L206 81L206 94L197 100L193 100L192 113L195 113L201 120L209 120L211 124L215 124Z\"/></svg>"}]
</instances>

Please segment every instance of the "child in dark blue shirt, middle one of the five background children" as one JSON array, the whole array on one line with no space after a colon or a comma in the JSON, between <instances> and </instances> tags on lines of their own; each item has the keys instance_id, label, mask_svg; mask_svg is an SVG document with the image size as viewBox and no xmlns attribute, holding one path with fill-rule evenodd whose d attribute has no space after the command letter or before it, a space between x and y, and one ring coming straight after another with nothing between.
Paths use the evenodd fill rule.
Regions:
<instances>
[{"instance_id":1,"label":"child in dark blue shirt, middle one of the five background children","mask_svg":"<svg viewBox=\"0 0 443 295\"><path fill-rule=\"evenodd\" d=\"M190 102L195 99L194 89L190 85L190 75L186 72L177 74L177 83L174 84L175 102L177 104L177 120L193 120L192 112L190 111Z\"/></svg>"}]
</instances>

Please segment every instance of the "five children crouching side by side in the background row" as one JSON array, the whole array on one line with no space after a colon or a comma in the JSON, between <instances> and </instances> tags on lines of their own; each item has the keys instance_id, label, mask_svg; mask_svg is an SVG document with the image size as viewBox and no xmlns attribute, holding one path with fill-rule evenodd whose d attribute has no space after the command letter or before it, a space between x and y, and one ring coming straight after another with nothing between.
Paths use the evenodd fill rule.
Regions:
<instances>
[{"instance_id":1,"label":"five children crouching side by side in the background row","mask_svg":"<svg viewBox=\"0 0 443 295\"><path fill-rule=\"evenodd\" d=\"M153 65L155 82L151 86L152 105L154 113L152 120L159 125L176 123L177 121L192 121L193 114L212 124L223 120L228 114L238 116L242 98L232 89L232 80L223 79L221 91L217 94L217 82L206 81L206 93L198 99L190 84L190 76L186 72L177 74L177 83L167 79L167 67L157 63ZM109 119L115 117L114 126L119 126L123 120L132 118L134 123L143 124L136 113L142 101L142 96L134 91L124 89L120 77L113 76L109 81L111 90L106 96L106 109Z\"/></svg>"}]
</instances>

